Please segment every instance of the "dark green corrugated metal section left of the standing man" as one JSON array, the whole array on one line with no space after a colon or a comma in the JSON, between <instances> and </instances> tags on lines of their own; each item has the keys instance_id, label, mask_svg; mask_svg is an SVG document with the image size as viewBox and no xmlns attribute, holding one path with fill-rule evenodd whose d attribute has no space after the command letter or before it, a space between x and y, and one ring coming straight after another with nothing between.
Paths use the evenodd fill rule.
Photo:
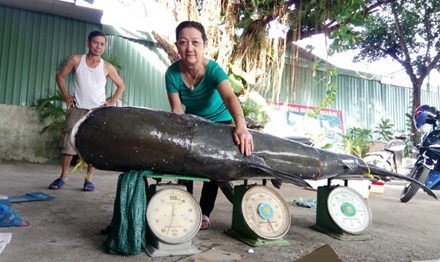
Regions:
<instances>
[{"instance_id":1,"label":"dark green corrugated metal section left of the standing man","mask_svg":"<svg viewBox=\"0 0 440 262\"><path fill-rule=\"evenodd\" d=\"M56 88L63 58L86 50L99 25L0 6L0 103L30 105Z\"/></svg>"}]
</instances>

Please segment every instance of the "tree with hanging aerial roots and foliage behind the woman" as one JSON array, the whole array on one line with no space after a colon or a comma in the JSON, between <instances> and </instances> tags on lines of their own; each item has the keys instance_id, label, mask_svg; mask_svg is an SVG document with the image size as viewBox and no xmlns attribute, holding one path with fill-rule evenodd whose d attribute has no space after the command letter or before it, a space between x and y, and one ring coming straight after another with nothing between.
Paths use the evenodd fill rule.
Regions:
<instances>
[{"instance_id":1,"label":"tree with hanging aerial roots and foliage behind the woman","mask_svg":"<svg viewBox=\"0 0 440 262\"><path fill-rule=\"evenodd\" d=\"M119 0L134 1L136 0ZM279 93L286 51L298 61L298 50L292 41L313 34L337 30L344 40L354 41L344 29L346 24L359 25L378 6L394 0L180 0L163 6L174 14L175 21L195 20L205 25L208 33L208 55L225 69L232 81L243 88L261 93ZM220 10L220 11L219 11ZM275 22L275 23L274 23ZM274 24L285 28L282 37L268 37ZM241 32L237 34L236 32ZM154 33L170 55L177 59L174 35ZM168 42L168 43L166 43ZM295 73L288 83L296 85ZM276 97L272 97L276 100Z\"/></svg>"}]
</instances>

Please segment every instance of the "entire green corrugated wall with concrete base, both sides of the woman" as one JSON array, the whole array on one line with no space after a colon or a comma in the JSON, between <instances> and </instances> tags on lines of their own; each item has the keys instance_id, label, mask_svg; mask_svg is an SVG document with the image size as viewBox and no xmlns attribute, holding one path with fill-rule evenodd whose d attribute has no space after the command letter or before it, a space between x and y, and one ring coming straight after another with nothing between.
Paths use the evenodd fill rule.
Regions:
<instances>
[{"instance_id":1,"label":"entire green corrugated wall with concrete base, both sides of the woman","mask_svg":"<svg viewBox=\"0 0 440 262\"><path fill-rule=\"evenodd\" d=\"M58 160L59 134L40 134L45 123L40 123L32 105L56 92L57 69L71 54L85 53L87 35L97 29L103 30L99 24L0 6L0 161ZM166 53L151 36L104 31L108 35L105 56L115 57L122 65L119 74L126 91L119 105L169 110L164 74L170 61ZM299 84L292 85L287 76L293 69L286 64L277 94L262 95L278 102L319 106L329 80L337 86L331 108L342 110L345 130L374 129L381 118L391 119L396 129L406 128L410 88L342 70L327 79L324 71L303 65L295 68ZM71 77L66 81L71 88ZM108 95L114 91L111 81L107 89ZM423 91L422 102L440 106L439 93Z\"/></svg>"}]
</instances>

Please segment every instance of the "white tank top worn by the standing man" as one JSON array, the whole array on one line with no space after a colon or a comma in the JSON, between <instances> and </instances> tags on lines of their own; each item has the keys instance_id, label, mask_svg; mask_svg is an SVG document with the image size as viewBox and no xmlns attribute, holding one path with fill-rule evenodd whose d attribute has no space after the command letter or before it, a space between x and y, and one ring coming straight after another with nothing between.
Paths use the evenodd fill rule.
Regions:
<instances>
[{"instance_id":1,"label":"white tank top worn by the standing man","mask_svg":"<svg viewBox=\"0 0 440 262\"><path fill-rule=\"evenodd\" d=\"M73 80L77 108L92 109L105 103L107 78L104 74L104 60L102 58L96 68L89 68L86 55L83 55L73 75Z\"/></svg>"}]
</instances>

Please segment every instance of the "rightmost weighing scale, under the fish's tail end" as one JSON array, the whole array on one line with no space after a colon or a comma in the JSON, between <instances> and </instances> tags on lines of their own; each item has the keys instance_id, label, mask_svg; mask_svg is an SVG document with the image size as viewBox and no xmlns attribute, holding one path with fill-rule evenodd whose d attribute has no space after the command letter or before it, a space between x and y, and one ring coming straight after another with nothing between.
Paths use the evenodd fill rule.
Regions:
<instances>
[{"instance_id":1,"label":"rightmost weighing scale, under the fish's tail end","mask_svg":"<svg viewBox=\"0 0 440 262\"><path fill-rule=\"evenodd\" d=\"M372 215L367 201L345 186L318 187L316 224L313 229L340 240L367 240Z\"/></svg>"}]
</instances>

